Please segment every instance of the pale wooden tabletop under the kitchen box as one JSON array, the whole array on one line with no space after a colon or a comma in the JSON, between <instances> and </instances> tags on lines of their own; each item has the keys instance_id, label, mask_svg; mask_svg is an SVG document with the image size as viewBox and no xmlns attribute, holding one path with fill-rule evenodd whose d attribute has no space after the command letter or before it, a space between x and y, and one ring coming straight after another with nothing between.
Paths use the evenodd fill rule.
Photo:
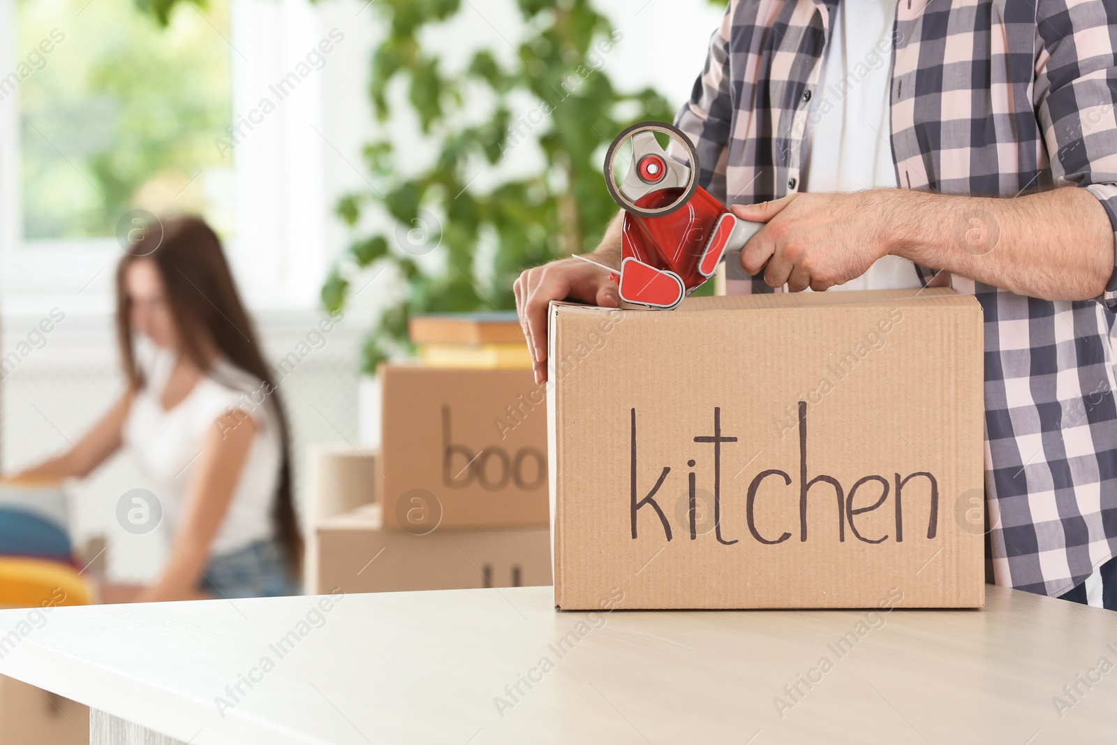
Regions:
<instances>
[{"instance_id":1,"label":"pale wooden tabletop under the kitchen box","mask_svg":"<svg viewBox=\"0 0 1117 745\"><path fill-rule=\"evenodd\" d=\"M316 602L55 609L0 672L89 705L95 744L1040 745L1117 733L1117 669L1078 684L1061 718L1052 703L1069 703L1063 686L1099 658L1117 663L1117 613L997 588L983 611L892 611L861 637L863 611L591 617L554 611L550 588L349 595L279 659L269 643ZM0 612L0 630L26 618ZM214 697L231 703L226 686L264 657L274 669L222 716ZM832 669L811 674L823 657ZM775 699L792 703L784 687L799 675L819 681L800 682L781 717Z\"/></svg>"}]
</instances>

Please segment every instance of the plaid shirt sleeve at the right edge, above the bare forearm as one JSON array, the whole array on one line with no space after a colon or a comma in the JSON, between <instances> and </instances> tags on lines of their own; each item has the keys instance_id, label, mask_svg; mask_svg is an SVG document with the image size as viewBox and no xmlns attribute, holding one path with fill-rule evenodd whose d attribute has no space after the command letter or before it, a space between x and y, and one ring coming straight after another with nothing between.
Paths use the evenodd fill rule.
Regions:
<instances>
[{"instance_id":1,"label":"plaid shirt sleeve at the right edge, above the bare forearm","mask_svg":"<svg viewBox=\"0 0 1117 745\"><path fill-rule=\"evenodd\" d=\"M1104 0L1048 0L1038 7L1035 27L1035 113L1054 184L1087 189L1117 236L1117 22ZM1110 309L1117 309L1115 290L1117 273L1098 298Z\"/></svg>"}]
</instances>

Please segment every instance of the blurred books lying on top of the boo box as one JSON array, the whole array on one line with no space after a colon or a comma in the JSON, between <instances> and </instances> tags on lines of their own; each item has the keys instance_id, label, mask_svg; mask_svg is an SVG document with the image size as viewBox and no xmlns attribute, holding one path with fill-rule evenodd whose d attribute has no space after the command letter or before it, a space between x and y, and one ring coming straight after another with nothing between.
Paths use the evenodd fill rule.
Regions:
<instances>
[{"instance_id":1,"label":"blurred books lying on top of the boo box","mask_svg":"<svg viewBox=\"0 0 1117 745\"><path fill-rule=\"evenodd\" d=\"M408 336L419 347L419 361L427 367L532 367L532 353L512 311L413 316Z\"/></svg>"}]
</instances>

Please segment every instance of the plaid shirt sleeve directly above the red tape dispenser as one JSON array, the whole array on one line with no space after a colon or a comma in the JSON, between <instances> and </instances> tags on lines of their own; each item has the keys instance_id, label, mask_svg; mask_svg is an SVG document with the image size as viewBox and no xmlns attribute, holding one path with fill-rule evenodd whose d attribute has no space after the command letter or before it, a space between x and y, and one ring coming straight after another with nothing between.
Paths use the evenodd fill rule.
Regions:
<instances>
[{"instance_id":1,"label":"plaid shirt sleeve directly above the red tape dispenser","mask_svg":"<svg viewBox=\"0 0 1117 745\"><path fill-rule=\"evenodd\" d=\"M709 40L706 68L695 80L690 99L675 117L675 126L690 137L701 165L698 185L726 203L725 152L733 122L729 75L729 30L738 0L729 2L722 25ZM671 152L672 156L679 153Z\"/></svg>"}]
</instances>

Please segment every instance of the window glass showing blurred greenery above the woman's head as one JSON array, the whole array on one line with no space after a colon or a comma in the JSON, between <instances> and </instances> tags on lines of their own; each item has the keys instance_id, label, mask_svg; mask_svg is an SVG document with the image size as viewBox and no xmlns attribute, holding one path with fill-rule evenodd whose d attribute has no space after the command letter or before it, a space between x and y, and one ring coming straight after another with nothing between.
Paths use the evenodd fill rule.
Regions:
<instances>
[{"instance_id":1,"label":"window glass showing blurred greenery above the woman's head","mask_svg":"<svg viewBox=\"0 0 1117 745\"><path fill-rule=\"evenodd\" d=\"M17 28L0 96L19 78L28 247L112 238L136 208L229 237L232 159L213 145L232 121L228 0L184 4L166 29L133 0L18 0Z\"/></svg>"}]
</instances>

